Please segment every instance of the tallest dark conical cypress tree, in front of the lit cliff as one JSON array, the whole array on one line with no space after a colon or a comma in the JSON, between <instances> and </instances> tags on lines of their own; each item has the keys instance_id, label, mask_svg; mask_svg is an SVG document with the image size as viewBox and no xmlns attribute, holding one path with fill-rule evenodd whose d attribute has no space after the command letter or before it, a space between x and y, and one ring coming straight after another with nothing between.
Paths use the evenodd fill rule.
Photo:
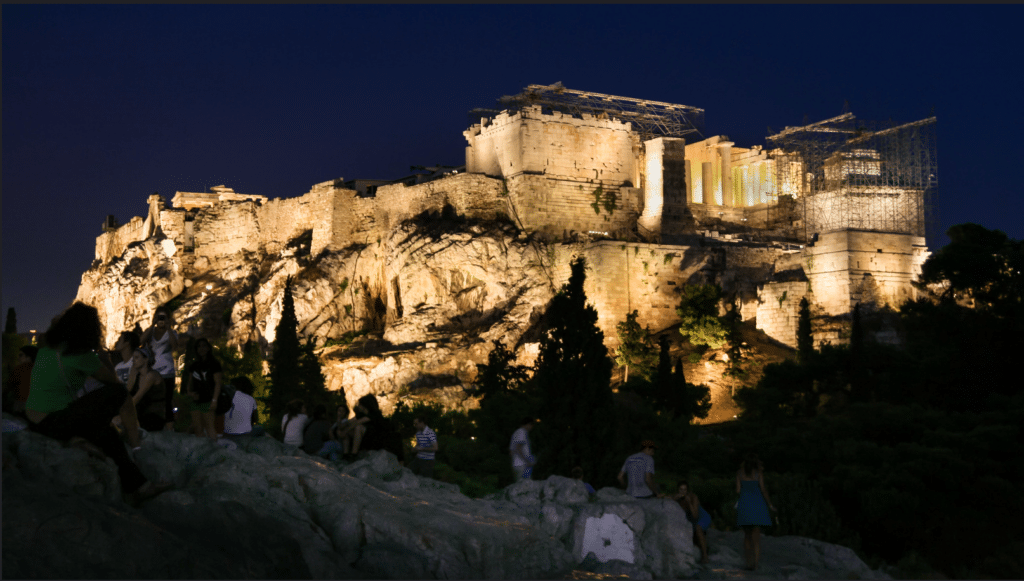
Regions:
<instances>
[{"instance_id":1,"label":"tallest dark conical cypress tree, in front of the lit cliff","mask_svg":"<svg viewBox=\"0 0 1024 581\"><path fill-rule=\"evenodd\" d=\"M606 453L615 420L611 359L597 327L597 310L587 304L585 269L583 257L571 262L568 283L546 314L548 331L534 375L543 402L535 429L542 473L569 474L578 465L588 474L617 468L609 466L618 459Z\"/></svg>"}]
</instances>

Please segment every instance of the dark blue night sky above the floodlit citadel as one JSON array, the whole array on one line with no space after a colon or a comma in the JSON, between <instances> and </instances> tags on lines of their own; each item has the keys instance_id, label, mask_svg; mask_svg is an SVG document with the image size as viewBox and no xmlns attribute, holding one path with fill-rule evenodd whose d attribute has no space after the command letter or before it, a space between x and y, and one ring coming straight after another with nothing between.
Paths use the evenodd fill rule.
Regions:
<instances>
[{"instance_id":1,"label":"dark blue night sky above the floodlit citadel","mask_svg":"<svg viewBox=\"0 0 1024 581\"><path fill-rule=\"evenodd\" d=\"M1024 6L3 7L2 313L45 330L108 214L465 163L529 84L706 111L705 136L938 117L939 229L1024 238ZM933 113L934 112L934 113ZM941 236L939 244L947 239ZM933 248L934 250L934 248Z\"/></svg>"}]
</instances>

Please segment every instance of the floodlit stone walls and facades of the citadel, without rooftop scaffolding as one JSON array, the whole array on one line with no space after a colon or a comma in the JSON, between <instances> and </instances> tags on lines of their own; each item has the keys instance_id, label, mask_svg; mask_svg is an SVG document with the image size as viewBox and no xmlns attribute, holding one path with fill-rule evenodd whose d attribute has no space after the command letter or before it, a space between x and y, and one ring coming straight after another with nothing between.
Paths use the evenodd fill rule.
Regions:
<instances>
[{"instance_id":1,"label":"floodlit stone walls and facades of the citadel, without rooftop scaffolding","mask_svg":"<svg viewBox=\"0 0 1024 581\"><path fill-rule=\"evenodd\" d=\"M372 196L346 189L338 178L288 199L237 194L226 186L179 192L171 207L151 197L150 217L133 218L96 239L96 260L118 259L159 225L188 278L249 254L284 253L303 235L309 236L313 255L379 243L403 220L450 208L467 218L507 217L541 234L554 257L550 277L556 287L567 279L572 254L583 253L591 269L588 297L609 346L616 342L615 324L634 309L641 325L655 331L678 323L679 288L701 282L720 284L729 307L739 309L743 320L756 318L760 329L795 346L801 298L833 316L858 302L896 306L915 296L910 283L928 257L924 238L907 234L908 220L920 215L921 192L849 185L851 176L879 171L877 156L867 149L829 160L825 175L842 184L834 196L819 191L805 197L799 159L769 159L761 148L738 148L725 136L691 143L672 137L641 141L630 123L546 114L537 107L481 119L464 136L465 172L414 185L378 184ZM786 171L778 171L778 164ZM809 204L808 223L791 219L787 232L816 233L815 242L741 242L718 226L701 225L741 224L771 239L778 215L769 214L778 210L769 203L779 195ZM844 210L815 211L824 204L843 204ZM866 222L858 221L862 216ZM858 230L860 223L890 223L880 216L893 216L889 232ZM566 244L573 235L613 240ZM686 240L684 245L635 242L638 236L688 238L676 239ZM783 271L802 275L772 282Z\"/></svg>"}]
</instances>

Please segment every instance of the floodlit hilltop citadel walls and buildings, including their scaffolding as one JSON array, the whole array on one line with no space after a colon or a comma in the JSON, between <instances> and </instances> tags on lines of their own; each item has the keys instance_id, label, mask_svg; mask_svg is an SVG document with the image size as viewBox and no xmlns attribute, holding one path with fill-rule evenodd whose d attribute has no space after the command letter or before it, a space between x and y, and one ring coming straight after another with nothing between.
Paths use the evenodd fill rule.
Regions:
<instances>
[{"instance_id":1,"label":"floodlit hilltop citadel walls and buildings, including their scaffolding","mask_svg":"<svg viewBox=\"0 0 1024 581\"><path fill-rule=\"evenodd\" d=\"M937 186L935 118L878 125L846 113L744 148L702 137L700 109L560 84L530 85L473 114L464 167L332 179L286 199L225 186L178 192L170 207L151 196L145 218L109 220L93 269L159 239L187 286L225 257L287 253L310 231L316 256L380 244L403 220L433 211L512 221L528 235L521 238L546 245L555 285L569 254L584 253L588 296L609 344L633 309L652 330L677 323L678 289L696 282L722 285L724 309L790 345L804 297L817 315L842 317L858 303L895 306L916 294ZM408 298L416 281L402 277L367 283L387 321L423 307ZM170 285L151 300L181 290ZM324 333L338 334L331 329ZM829 332L817 338L842 341Z\"/></svg>"}]
</instances>

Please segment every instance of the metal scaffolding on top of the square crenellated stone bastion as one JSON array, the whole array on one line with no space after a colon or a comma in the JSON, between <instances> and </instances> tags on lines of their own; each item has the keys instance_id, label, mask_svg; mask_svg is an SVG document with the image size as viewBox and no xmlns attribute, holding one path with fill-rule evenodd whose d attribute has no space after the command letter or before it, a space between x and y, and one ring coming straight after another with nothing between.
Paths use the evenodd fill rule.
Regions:
<instances>
[{"instance_id":1,"label":"metal scaffolding on top of the square crenellated stone bastion","mask_svg":"<svg viewBox=\"0 0 1024 581\"><path fill-rule=\"evenodd\" d=\"M561 83L529 85L521 93L498 99L500 110L474 109L470 117L493 117L499 111L519 111L525 107L540 106L549 113L558 111L573 117L584 114L599 118L611 117L633 124L641 141L653 137L683 137L696 133L699 139L703 127L703 110L686 105L656 100L606 95L566 89Z\"/></svg>"}]
</instances>

